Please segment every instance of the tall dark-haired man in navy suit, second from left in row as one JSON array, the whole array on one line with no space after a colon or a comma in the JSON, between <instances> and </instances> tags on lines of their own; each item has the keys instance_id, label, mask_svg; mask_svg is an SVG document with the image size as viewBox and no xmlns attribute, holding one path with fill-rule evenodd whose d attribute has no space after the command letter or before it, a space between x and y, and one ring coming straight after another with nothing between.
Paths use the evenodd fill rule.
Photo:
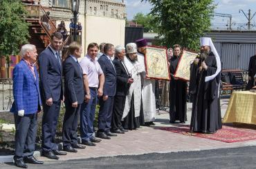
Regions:
<instances>
[{"instance_id":1,"label":"tall dark-haired man in navy suit, second from left in row","mask_svg":"<svg viewBox=\"0 0 256 169\"><path fill-rule=\"evenodd\" d=\"M42 119L42 150L49 159L59 159L56 155L66 155L57 150L54 143L57 119L60 115L60 103L63 98L62 90L62 61L60 50L62 34L54 32L51 44L39 54L40 89L44 115Z\"/></svg>"}]
</instances>

